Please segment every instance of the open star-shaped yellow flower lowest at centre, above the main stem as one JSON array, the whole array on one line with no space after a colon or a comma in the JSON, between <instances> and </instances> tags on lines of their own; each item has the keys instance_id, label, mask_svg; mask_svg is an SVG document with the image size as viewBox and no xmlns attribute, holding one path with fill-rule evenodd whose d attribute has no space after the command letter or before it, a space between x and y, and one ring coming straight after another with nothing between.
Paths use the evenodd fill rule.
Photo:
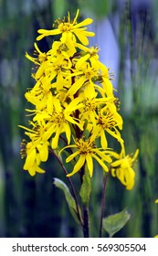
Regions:
<instances>
[{"instance_id":1,"label":"open star-shaped yellow flower lowest at centre, above the main stem","mask_svg":"<svg viewBox=\"0 0 158 256\"><path fill-rule=\"evenodd\" d=\"M91 177L93 175L93 158L99 163L99 165L103 168L105 172L109 171L107 165L104 164L104 162L111 163L109 151L106 152L104 150L104 152L101 152L100 148L95 147L94 140L95 136L93 135L91 135L91 137L87 140L83 137L80 139L76 139L75 144L70 144L62 149L64 150L66 148L74 148L76 150L72 155L68 156L68 158L66 159L67 163L70 162L72 159L76 159L76 157L78 157L78 161L76 165L74 165L72 172L67 176L73 176L74 174L79 172L82 166L87 164ZM106 153L108 155L106 155Z\"/></svg>"}]
</instances>

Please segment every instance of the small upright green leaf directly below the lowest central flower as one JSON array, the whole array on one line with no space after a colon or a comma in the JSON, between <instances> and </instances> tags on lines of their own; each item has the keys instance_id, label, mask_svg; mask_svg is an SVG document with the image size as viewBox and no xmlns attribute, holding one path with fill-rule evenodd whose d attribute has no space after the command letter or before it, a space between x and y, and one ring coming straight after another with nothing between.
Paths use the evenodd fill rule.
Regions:
<instances>
[{"instance_id":1,"label":"small upright green leaf directly below the lowest central flower","mask_svg":"<svg viewBox=\"0 0 158 256\"><path fill-rule=\"evenodd\" d=\"M91 192L91 179L90 172L86 169L83 176L83 182L79 191L79 196L84 204L88 205L90 201L90 192Z\"/></svg>"}]
</instances>

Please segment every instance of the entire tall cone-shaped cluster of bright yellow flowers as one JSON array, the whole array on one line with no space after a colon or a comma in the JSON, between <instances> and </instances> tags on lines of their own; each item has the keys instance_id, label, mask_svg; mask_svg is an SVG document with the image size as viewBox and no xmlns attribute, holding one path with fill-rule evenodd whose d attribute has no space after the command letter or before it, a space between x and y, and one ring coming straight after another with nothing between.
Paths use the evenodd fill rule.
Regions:
<instances>
[{"instance_id":1,"label":"entire tall cone-shaped cluster of bright yellow flowers","mask_svg":"<svg viewBox=\"0 0 158 256\"><path fill-rule=\"evenodd\" d=\"M105 172L111 170L112 176L132 189L132 162L138 151L133 157L125 155L120 133L123 121L110 70L100 62L99 48L88 46L94 33L87 31L86 26L92 19L78 23L78 16L79 10L74 19L69 13L63 20L58 19L52 30L39 29L37 41L59 35L58 41L53 41L47 52L35 43L34 57L26 53L36 72L32 74L35 85L25 95L33 105L27 110L33 119L29 128L21 126L28 137L21 149L22 157L26 157L24 170L31 176L44 173L40 164L47 161L49 150L61 154L68 149L66 162L74 163L68 176L86 166L91 177L95 160ZM121 145L121 154L109 148L110 137Z\"/></svg>"}]
</instances>

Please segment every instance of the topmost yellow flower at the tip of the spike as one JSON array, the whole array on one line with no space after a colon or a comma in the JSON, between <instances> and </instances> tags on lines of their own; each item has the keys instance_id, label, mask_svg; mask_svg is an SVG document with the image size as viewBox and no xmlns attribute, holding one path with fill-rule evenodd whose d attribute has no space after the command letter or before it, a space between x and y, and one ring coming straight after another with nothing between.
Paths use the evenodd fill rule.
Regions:
<instances>
[{"instance_id":1,"label":"topmost yellow flower at the tip of the spike","mask_svg":"<svg viewBox=\"0 0 158 256\"><path fill-rule=\"evenodd\" d=\"M85 31L87 27L84 26L90 25L93 20L91 18L86 18L82 22L77 23L78 16L79 10L73 20L70 20L69 13L67 20L65 18L62 21L58 19L58 28L56 29L38 29L37 32L41 35L37 37L37 40L47 36L62 34L60 38L62 43L67 43L67 41L76 42L76 37L78 37L83 45L88 45L89 40L87 37L94 37L95 34L93 32Z\"/></svg>"}]
</instances>

